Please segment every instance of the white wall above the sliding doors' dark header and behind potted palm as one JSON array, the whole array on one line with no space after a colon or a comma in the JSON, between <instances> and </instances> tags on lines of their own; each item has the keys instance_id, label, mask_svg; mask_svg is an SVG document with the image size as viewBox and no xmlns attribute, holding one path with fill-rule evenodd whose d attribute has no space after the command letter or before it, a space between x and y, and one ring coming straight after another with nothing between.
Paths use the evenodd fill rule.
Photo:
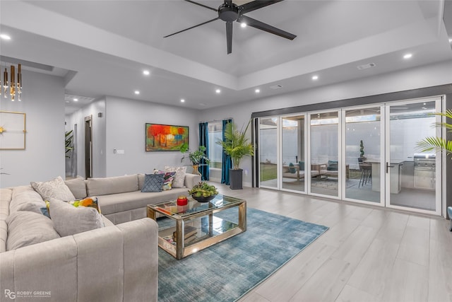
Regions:
<instances>
[{"instance_id":1,"label":"white wall above the sliding doors' dark header and behind potted palm","mask_svg":"<svg viewBox=\"0 0 452 302\"><path fill-rule=\"evenodd\" d=\"M201 112L201 119L222 120L225 117L232 117L237 126L241 127L249 121L253 112L324 103L333 100L345 100L348 98L359 98L367 95L379 95L382 93L406 91L451 83L452 61L441 62L439 64L405 69L391 74L369 76L356 81L347 81L284 95L275 95L246 103L206 109ZM251 137L250 130L249 137ZM248 175L244 175L243 178L244 185L246 186L251 186L251 167L251 158L244 158L241 163L241 168L249 171Z\"/></svg>"}]
</instances>

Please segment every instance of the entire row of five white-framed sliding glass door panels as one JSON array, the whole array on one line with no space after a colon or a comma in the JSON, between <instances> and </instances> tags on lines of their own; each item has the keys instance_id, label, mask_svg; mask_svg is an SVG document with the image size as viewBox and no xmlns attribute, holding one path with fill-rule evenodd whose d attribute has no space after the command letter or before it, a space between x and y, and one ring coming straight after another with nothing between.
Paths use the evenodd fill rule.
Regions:
<instances>
[{"instance_id":1,"label":"entire row of five white-framed sliding glass door panels","mask_svg":"<svg viewBox=\"0 0 452 302\"><path fill-rule=\"evenodd\" d=\"M441 214L441 97L260 117L259 186ZM257 125L257 124L256 124Z\"/></svg>"}]
</instances>

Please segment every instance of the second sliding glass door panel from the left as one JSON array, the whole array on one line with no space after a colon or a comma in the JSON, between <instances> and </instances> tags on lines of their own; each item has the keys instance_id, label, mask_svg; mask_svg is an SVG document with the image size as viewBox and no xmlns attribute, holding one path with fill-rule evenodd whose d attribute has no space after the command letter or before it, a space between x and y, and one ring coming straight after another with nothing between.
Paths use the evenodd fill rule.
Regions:
<instances>
[{"instance_id":1,"label":"second sliding glass door panel from the left","mask_svg":"<svg viewBox=\"0 0 452 302\"><path fill-rule=\"evenodd\" d=\"M304 115L281 117L281 187L305 192L304 179Z\"/></svg>"}]
</instances>

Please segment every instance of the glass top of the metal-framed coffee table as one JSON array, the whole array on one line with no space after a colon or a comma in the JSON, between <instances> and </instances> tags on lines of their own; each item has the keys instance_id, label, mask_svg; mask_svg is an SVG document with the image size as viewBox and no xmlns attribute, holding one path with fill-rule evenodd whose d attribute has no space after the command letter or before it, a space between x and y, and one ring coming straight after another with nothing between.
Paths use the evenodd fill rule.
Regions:
<instances>
[{"instance_id":1,"label":"glass top of the metal-framed coffee table","mask_svg":"<svg viewBox=\"0 0 452 302\"><path fill-rule=\"evenodd\" d=\"M234 197L224 196L218 194L210 202L197 202L195 199L189 197L188 204L185 206L178 206L176 200L169 202L160 202L157 204L149 204L148 207L153 208L155 211L172 216L175 219L186 218L186 216L201 213L203 211L211 211L215 209L221 209L223 207L233 207L234 204L242 203L243 199L237 199Z\"/></svg>"}]
</instances>

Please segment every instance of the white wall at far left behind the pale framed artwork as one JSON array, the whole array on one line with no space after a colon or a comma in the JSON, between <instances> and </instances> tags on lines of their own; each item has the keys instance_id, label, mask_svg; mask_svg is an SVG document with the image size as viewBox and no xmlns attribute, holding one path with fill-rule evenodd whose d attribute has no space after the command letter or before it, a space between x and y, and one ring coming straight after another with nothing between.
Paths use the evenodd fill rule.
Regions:
<instances>
[{"instance_id":1,"label":"white wall at far left behind the pale framed artwork","mask_svg":"<svg viewBox=\"0 0 452 302\"><path fill-rule=\"evenodd\" d=\"M22 77L22 101L11 102L2 94L0 109L26 113L25 150L0 151L1 172L10 174L0 175L0 187L65 174L63 79L25 70Z\"/></svg>"}]
</instances>

